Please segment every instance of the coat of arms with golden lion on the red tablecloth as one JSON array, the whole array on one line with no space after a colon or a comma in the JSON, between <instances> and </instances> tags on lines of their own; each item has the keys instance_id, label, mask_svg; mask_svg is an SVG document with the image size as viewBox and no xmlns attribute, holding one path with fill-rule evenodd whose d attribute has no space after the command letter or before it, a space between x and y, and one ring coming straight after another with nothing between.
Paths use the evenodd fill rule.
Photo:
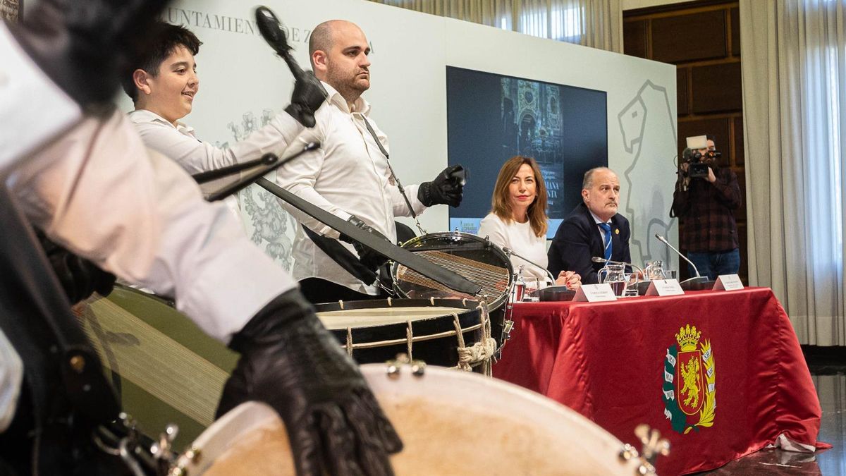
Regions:
<instances>
[{"instance_id":1,"label":"coat of arms with golden lion on the red tablecloth","mask_svg":"<svg viewBox=\"0 0 846 476\"><path fill-rule=\"evenodd\" d=\"M714 354L701 335L695 325L678 329L678 346L668 347L664 358L664 416L681 434L712 426L717 410Z\"/></svg>"}]
</instances>

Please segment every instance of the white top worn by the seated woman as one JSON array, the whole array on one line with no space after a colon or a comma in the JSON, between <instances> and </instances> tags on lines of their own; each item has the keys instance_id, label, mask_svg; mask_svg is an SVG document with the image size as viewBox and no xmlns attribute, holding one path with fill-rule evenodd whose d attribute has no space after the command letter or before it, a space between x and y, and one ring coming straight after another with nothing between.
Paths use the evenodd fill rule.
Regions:
<instances>
[{"instance_id":1,"label":"white top worn by the seated woman","mask_svg":"<svg viewBox=\"0 0 846 476\"><path fill-rule=\"evenodd\" d=\"M549 263L547 258L547 237L535 235L535 232L531 230L531 223L529 221L519 223L511 220L511 223L506 224L496 214L488 213L481 220L478 235L482 238L487 236L494 245L514 250L514 252L529 258L543 267L538 268L534 264L512 255L511 265L514 266L514 273L522 266L524 278L537 278L538 281L552 284L549 282L549 274L547 274L547 264Z\"/></svg>"}]
</instances>

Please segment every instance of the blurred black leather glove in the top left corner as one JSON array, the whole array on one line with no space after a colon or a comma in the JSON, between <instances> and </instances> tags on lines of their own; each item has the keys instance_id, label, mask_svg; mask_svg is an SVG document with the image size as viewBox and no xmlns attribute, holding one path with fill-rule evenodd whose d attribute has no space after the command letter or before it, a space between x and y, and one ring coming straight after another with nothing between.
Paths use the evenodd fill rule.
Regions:
<instances>
[{"instance_id":1,"label":"blurred black leather glove in the top left corner","mask_svg":"<svg viewBox=\"0 0 846 476\"><path fill-rule=\"evenodd\" d=\"M83 106L111 102L128 58L167 0L41 0L9 29L57 86Z\"/></svg>"}]
</instances>

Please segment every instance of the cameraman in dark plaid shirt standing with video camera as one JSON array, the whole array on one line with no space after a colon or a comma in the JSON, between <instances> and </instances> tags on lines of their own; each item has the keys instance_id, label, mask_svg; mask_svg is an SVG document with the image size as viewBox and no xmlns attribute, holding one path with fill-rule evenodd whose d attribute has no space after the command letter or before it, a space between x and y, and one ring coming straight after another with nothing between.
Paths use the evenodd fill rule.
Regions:
<instances>
[{"instance_id":1,"label":"cameraman in dark plaid shirt standing with video camera","mask_svg":"<svg viewBox=\"0 0 846 476\"><path fill-rule=\"evenodd\" d=\"M689 260L702 276L716 280L720 274L737 274L740 268L733 212L740 207L740 187L731 169L718 166L722 154L713 136L706 136L706 143L700 145L706 147L684 149L670 217L684 221L681 247ZM693 268L690 274L695 275Z\"/></svg>"}]
</instances>

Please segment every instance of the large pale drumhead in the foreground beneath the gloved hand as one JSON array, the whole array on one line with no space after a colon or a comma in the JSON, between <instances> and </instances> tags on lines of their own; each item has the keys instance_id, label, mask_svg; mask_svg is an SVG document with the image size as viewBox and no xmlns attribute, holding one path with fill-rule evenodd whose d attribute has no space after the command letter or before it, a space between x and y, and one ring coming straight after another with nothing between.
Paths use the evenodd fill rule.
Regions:
<instances>
[{"instance_id":1,"label":"large pale drumhead in the foreground beneath the gloved hand","mask_svg":"<svg viewBox=\"0 0 846 476\"><path fill-rule=\"evenodd\" d=\"M639 462L619 457L623 444L579 413L544 396L477 374L402 366L361 367L404 443L391 457L407 474L634 476ZM200 457L194 457L200 455ZM178 460L188 474L293 475L282 421L270 407L234 408Z\"/></svg>"}]
</instances>

